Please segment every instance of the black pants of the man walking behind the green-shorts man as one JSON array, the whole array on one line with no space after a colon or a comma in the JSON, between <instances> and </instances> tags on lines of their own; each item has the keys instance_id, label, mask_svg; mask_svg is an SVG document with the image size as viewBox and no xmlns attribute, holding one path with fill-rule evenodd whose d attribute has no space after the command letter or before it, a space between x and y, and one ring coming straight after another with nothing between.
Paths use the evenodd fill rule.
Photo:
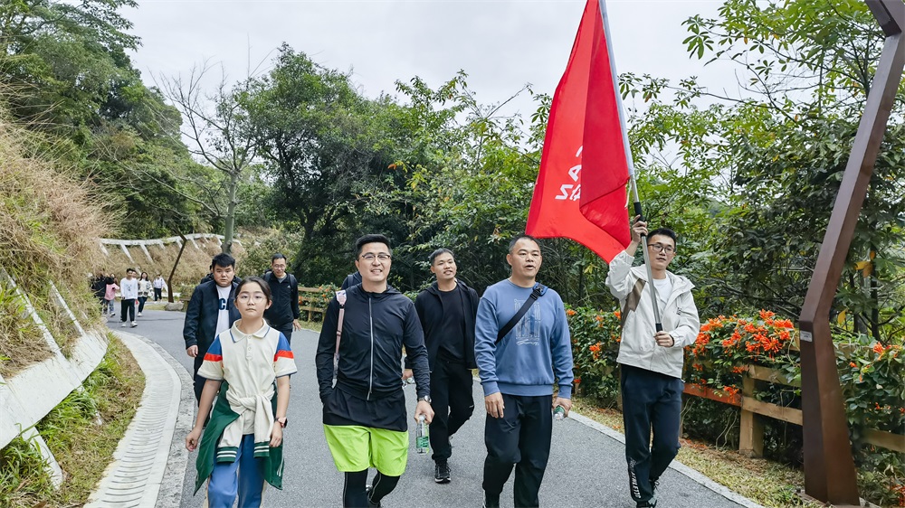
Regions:
<instances>
[{"instance_id":1,"label":"black pants of the man walking behind the green-shorts man","mask_svg":"<svg viewBox=\"0 0 905 508\"><path fill-rule=\"evenodd\" d=\"M452 456L449 437L472 418L472 371L464 363L437 358L431 372L431 449L433 460Z\"/></svg>"}]
</instances>

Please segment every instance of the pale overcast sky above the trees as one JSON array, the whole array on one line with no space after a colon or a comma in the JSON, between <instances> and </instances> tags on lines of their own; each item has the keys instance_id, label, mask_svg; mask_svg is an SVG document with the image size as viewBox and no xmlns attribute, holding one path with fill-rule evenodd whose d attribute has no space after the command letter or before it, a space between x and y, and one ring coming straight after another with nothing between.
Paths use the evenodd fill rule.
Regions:
<instances>
[{"instance_id":1,"label":"pale overcast sky above the trees","mask_svg":"<svg viewBox=\"0 0 905 508\"><path fill-rule=\"evenodd\" d=\"M713 17L716 0L609 0L617 70L679 79L699 75L711 85L734 82L725 68L702 70L681 41L681 22ZM126 14L141 38L133 61L152 76L186 75L205 59L223 62L240 80L265 68L282 42L321 65L353 71L368 97L395 94L395 80L420 76L432 88L460 69L483 104L508 99L526 83L550 95L566 67L584 0L139 0ZM729 74L729 76L727 76ZM527 117L528 97L510 109ZM511 111L510 111L511 112Z\"/></svg>"}]
</instances>

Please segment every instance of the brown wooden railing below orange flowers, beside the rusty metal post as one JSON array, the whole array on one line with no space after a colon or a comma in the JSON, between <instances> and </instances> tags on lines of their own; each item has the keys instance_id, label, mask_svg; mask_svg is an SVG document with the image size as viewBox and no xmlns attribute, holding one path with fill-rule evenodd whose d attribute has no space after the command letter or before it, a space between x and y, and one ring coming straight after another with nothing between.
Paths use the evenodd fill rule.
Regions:
<instances>
[{"instance_id":1,"label":"brown wooden railing below orange flowers, beside the rusty metal post","mask_svg":"<svg viewBox=\"0 0 905 508\"><path fill-rule=\"evenodd\" d=\"M760 365L748 365L748 371L742 374L742 389L739 393L713 390L697 384L686 384L685 393L694 397L716 400L724 404L741 408L741 427L738 435L738 451L747 456L764 455L764 421L759 416L779 419L795 425L802 424L801 409L786 408L763 400L757 400L757 385L770 382L786 386L800 387L801 382L788 380L775 369ZM905 453L905 436L893 434L875 428L864 431L864 442L877 447L887 448Z\"/></svg>"}]
</instances>

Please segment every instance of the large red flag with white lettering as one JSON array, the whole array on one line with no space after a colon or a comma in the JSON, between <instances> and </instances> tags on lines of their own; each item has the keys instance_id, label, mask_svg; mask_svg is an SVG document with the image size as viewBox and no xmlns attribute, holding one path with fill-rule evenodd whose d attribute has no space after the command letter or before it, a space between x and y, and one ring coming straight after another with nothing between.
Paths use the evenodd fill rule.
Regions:
<instances>
[{"instance_id":1,"label":"large red flag with white lettering","mask_svg":"<svg viewBox=\"0 0 905 508\"><path fill-rule=\"evenodd\" d=\"M599 1L585 6L553 95L525 230L576 240L609 262L631 240L629 163Z\"/></svg>"}]
</instances>

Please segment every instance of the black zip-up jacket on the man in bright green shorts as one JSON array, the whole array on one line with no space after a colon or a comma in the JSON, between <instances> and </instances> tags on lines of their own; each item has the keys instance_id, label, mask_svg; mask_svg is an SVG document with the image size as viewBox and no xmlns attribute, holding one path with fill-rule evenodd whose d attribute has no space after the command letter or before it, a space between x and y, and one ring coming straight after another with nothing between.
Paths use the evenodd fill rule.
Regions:
<instances>
[{"instance_id":1,"label":"black zip-up jacket on the man in bright green shorts","mask_svg":"<svg viewBox=\"0 0 905 508\"><path fill-rule=\"evenodd\" d=\"M398 395L402 390L402 348L411 359L418 397L431 394L424 333L412 300L387 287L368 293L360 285L346 289L346 312L339 342L337 388L364 400ZM320 331L315 364L320 398L332 390L339 304L330 300Z\"/></svg>"}]
</instances>

